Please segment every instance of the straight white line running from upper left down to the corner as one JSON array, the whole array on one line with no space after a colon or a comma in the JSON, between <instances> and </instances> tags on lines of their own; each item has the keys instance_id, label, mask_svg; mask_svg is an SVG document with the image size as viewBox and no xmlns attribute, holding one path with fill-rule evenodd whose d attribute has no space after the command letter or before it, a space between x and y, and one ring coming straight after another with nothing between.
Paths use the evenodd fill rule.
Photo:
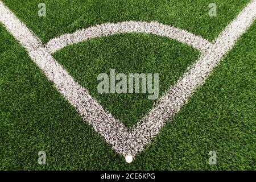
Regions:
<instances>
[{"instance_id":1,"label":"straight white line running from upper left down to the corner","mask_svg":"<svg viewBox=\"0 0 256 182\"><path fill-rule=\"evenodd\" d=\"M121 151L119 144L126 140L127 129L117 119L105 111L97 101L95 101L85 88L77 84L67 71L45 48L40 40L34 35L25 24L0 1L0 21L7 30L27 49L28 55L35 61L40 69L55 87L79 111L81 117L93 126L115 150ZM128 149L126 149L128 150Z\"/></svg>"}]
</instances>

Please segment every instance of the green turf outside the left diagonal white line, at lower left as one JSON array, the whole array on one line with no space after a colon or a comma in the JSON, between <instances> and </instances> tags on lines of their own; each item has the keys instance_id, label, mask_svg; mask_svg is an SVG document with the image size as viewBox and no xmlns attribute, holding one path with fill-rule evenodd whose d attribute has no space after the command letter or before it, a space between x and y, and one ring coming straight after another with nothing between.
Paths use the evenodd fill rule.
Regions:
<instances>
[{"instance_id":1,"label":"green turf outside the left diagonal white line, at lower left","mask_svg":"<svg viewBox=\"0 0 256 182\"><path fill-rule=\"evenodd\" d=\"M77 169L83 162L92 169L102 159L121 160L1 24L0 38L0 170ZM40 150L50 166L38 165Z\"/></svg>"}]
</instances>

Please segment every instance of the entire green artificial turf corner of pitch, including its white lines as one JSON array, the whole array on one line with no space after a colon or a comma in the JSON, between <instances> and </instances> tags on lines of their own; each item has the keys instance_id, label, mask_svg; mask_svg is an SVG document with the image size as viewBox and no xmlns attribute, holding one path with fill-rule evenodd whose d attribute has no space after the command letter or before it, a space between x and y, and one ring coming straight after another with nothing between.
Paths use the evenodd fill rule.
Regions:
<instances>
[{"instance_id":1,"label":"entire green artificial turf corner of pitch, including its white lines","mask_svg":"<svg viewBox=\"0 0 256 182\"><path fill-rule=\"evenodd\" d=\"M0 0L0 170L256 170L255 18L256 0ZM110 69L158 73L158 100L98 93Z\"/></svg>"}]
</instances>

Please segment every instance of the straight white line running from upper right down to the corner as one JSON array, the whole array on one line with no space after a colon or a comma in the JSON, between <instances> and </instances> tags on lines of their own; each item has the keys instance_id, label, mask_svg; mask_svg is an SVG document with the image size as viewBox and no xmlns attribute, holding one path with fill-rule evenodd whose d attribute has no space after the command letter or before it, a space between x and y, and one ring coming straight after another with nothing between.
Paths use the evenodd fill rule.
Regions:
<instances>
[{"instance_id":1,"label":"straight white line running from upper right down to the corner","mask_svg":"<svg viewBox=\"0 0 256 182\"><path fill-rule=\"evenodd\" d=\"M212 69L216 67L222 57L234 46L236 40L254 22L255 16L256 0L253 0L218 36L213 46L188 69L187 73L180 78L176 85L172 86L164 94L158 105L150 111L150 114L138 123L131 133L132 139L137 138L132 144L137 144L137 152L143 150L143 147L151 141L152 137L159 133L159 129L167 119L177 113L180 107L188 101L195 89L205 82ZM133 141L131 140L131 143Z\"/></svg>"}]
</instances>

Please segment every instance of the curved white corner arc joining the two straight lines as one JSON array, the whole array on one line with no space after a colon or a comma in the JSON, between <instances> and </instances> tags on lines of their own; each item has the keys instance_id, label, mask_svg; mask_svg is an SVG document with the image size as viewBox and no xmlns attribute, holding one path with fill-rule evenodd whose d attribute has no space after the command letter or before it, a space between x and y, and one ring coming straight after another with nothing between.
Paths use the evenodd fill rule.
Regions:
<instances>
[{"instance_id":1,"label":"curved white corner arc joining the two straight lines","mask_svg":"<svg viewBox=\"0 0 256 182\"><path fill-rule=\"evenodd\" d=\"M202 52L207 51L211 45L208 40L201 38L201 36L193 35L190 32L181 30L180 28L171 27L158 22L129 21L121 23L104 23L89 28L83 28L82 30L77 30L72 34L64 34L49 40L46 47L51 53L53 53L65 46L79 43L84 40L127 32L139 32L166 36L171 39L176 39L179 42L188 44L189 46L199 49Z\"/></svg>"}]
</instances>

